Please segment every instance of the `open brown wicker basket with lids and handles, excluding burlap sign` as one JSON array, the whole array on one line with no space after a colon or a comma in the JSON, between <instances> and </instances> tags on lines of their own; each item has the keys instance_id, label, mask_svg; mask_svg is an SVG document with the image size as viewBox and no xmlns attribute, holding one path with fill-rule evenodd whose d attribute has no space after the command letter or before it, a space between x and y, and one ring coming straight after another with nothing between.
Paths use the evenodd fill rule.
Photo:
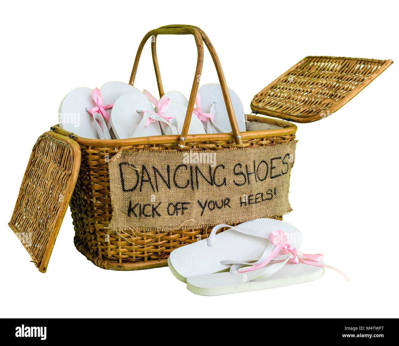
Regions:
<instances>
[{"instance_id":1,"label":"open brown wicker basket with lids and handles, excluding burlap sign","mask_svg":"<svg viewBox=\"0 0 399 346\"><path fill-rule=\"evenodd\" d=\"M117 153L124 149L150 151L156 160L161 150L172 153L204 150L230 152L238 148L259 150L255 148L270 147L265 149L269 152L273 146L295 140L297 127L287 120L313 122L326 118L392 63L391 60L306 57L255 95L251 109L263 116L246 116L247 131L240 133L219 58L207 35L197 27L173 25L149 31L138 48L130 85L134 83L144 44L151 37L158 91L160 97L164 95L156 57L156 37L161 34L194 36L198 51L195 76L201 75L205 43L219 77L232 132L188 134L199 85L197 77L180 135L96 140L81 138L59 126L51 127L51 131L40 136L32 149L9 222L41 272L47 270L68 204L77 250L103 269L124 271L166 266L168 256L174 249L207 238L213 226L221 223L216 220L215 224L204 228L164 232L142 232L138 227L134 232L130 229L111 231L109 224L115 211L111 203L109 162ZM264 210L268 214L263 217L270 215L282 220L282 215L273 215L275 209ZM223 230L225 228L220 232Z\"/></svg>"}]
</instances>

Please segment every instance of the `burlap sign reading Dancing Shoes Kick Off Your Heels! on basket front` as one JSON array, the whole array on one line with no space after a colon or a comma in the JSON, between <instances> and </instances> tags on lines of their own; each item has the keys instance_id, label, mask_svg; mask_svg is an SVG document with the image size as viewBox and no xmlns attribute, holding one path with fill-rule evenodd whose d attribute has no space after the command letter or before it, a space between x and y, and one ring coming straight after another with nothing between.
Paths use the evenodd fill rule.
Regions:
<instances>
[{"instance_id":1,"label":"burlap sign reading Dancing Shoes Kick Off Your Heels! on basket front","mask_svg":"<svg viewBox=\"0 0 399 346\"><path fill-rule=\"evenodd\" d=\"M109 162L108 228L191 229L290 212L295 146L290 141L217 151L121 150Z\"/></svg>"}]
</instances>

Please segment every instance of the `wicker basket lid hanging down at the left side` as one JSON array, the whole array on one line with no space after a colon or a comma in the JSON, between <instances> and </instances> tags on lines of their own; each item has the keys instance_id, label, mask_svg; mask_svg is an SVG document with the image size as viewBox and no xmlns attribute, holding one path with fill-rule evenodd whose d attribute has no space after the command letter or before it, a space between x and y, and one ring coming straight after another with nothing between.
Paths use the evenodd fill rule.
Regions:
<instances>
[{"instance_id":1,"label":"wicker basket lid hanging down at the left side","mask_svg":"<svg viewBox=\"0 0 399 346\"><path fill-rule=\"evenodd\" d=\"M54 132L40 136L32 149L8 225L42 273L68 208L80 161L79 144Z\"/></svg>"}]
</instances>

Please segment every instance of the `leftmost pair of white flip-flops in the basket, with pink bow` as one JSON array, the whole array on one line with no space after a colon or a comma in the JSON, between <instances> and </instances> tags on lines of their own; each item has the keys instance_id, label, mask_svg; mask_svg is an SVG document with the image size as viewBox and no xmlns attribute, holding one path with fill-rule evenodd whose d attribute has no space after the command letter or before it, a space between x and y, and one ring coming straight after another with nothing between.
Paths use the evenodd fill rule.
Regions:
<instances>
[{"instance_id":1,"label":"leftmost pair of white flip-flops in the basket, with pink bow","mask_svg":"<svg viewBox=\"0 0 399 346\"><path fill-rule=\"evenodd\" d=\"M93 139L116 138L109 123L112 106L115 101L128 92L134 90L122 82L105 83L101 89L76 88L69 92L62 100L58 110L59 126L78 136ZM107 124L107 130L101 120L94 114L100 114Z\"/></svg>"}]
</instances>

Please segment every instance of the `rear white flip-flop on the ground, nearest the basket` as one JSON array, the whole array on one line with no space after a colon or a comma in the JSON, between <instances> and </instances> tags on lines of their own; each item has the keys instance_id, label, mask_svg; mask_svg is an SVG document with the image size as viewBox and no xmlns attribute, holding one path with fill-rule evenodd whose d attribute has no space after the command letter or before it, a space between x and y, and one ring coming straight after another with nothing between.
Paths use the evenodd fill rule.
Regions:
<instances>
[{"instance_id":1,"label":"rear white flip-flop on the ground, nearest the basket","mask_svg":"<svg viewBox=\"0 0 399 346\"><path fill-rule=\"evenodd\" d=\"M221 228L230 229L216 234ZM221 263L226 259L264 261L275 247L270 234L276 230L283 230L293 246L302 243L302 234L280 220L259 218L234 227L220 224L212 229L209 238L173 250L168 258L169 268L180 281L186 282L188 277L229 270L232 263Z\"/></svg>"}]
</instances>

